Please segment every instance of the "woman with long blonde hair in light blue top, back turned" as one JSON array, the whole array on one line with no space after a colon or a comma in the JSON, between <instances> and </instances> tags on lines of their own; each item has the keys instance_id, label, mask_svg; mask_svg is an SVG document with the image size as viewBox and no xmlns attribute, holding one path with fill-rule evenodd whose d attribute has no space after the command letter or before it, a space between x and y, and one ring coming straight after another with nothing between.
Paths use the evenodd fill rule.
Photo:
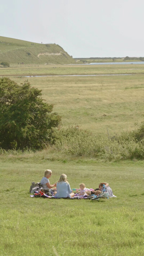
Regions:
<instances>
[{"instance_id":1,"label":"woman with long blonde hair in light blue top, back turned","mask_svg":"<svg viewBox=\"0 0 144 256\"><path fill-rule=\"evenodd\" d=\"M57 193L54 197L56 198L62 198L62 197L74 197L75 194L72 193L72 190L70 188L70 185L67 181L67 175L62 174L59 178L59 181L57 182Z\"/></svg>"}]
</instances>

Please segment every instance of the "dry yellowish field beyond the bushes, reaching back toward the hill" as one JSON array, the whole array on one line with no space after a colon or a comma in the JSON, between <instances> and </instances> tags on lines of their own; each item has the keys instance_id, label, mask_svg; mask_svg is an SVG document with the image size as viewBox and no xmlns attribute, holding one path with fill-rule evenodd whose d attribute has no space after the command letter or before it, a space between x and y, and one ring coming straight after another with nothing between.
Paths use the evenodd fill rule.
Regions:
<instances>
[{"instance_id":1,"label":"dry yellowish field beyond the bushes, reaching back toward the hill","mask_svg":"<svg viewBox=\"0 0 144 256\"><path fill-rule=\"evenodd\" d=\"M62 116L63 126L78 124L82 129L101 135L107 135L108 128L109 135L113 136L123 130L135 129L135 124L140 124L144 119L143 65L55 65L53 67L49 65L39 68L1 68L1 71L18 84L28 79L32 86L42 89L42 97L53 103L54 111ZM25 75L133 73L133 75L19 77L22 73Z\"/></svg>"}]
</instances>

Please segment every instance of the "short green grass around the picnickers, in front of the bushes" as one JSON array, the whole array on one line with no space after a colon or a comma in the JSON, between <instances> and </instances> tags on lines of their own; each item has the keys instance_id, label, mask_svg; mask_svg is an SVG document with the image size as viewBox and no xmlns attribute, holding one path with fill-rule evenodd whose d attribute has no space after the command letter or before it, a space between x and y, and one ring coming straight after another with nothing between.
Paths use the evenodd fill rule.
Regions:
<instances>
[{"instance_id":1,"label":"short green grass around the picnickers, in front of the bushes","mask_svg":"<svg viewBox=\"0 0 144 256\"><path fill-rule=\"evenodd\" d=\"M47 153L1 156L0 255L143 255L143 161L50 161ZM71 188L106 181L117 198L30 198L31 182L48 168L51 184L62 173Z\"/></svg>"}]
</instances>

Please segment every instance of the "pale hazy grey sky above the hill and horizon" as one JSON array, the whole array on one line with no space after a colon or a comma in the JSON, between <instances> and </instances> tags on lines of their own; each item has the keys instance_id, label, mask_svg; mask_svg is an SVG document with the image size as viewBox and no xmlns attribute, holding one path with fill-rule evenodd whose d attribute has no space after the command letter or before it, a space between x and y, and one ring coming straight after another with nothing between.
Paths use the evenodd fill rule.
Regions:
<instances>
[{"instance_id":1,"label":"pale hazy grey sky above the hill and horizon","mask_svg":"<svg viewBox=\"0 0 144 256\"><path fill-rule=\"evenodd\" d=\"M76 57L144 57L143 0L0 0L0 35Z\"/></svg>"}]
</instances>

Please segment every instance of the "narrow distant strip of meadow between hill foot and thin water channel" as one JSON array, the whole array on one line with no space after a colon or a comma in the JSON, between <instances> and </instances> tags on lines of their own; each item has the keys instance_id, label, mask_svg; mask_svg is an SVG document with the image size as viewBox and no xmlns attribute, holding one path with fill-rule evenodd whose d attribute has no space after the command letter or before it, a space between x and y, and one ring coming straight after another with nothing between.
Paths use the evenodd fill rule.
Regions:
<instances>
[{"instance_id":1,"label":"narrow distant strip of meadow between hill foot and thin water channel","mask_svg":"<svg viewBox=\"0 0 144 256\"><path fill-rule=\"evenodd\" d=\"M15 67L1 67L3 76L33 76L33 75L110 75L110 74L144 74L143 64L125 65L44 65L15 64Z\"/></svg>"}]
</instances>

